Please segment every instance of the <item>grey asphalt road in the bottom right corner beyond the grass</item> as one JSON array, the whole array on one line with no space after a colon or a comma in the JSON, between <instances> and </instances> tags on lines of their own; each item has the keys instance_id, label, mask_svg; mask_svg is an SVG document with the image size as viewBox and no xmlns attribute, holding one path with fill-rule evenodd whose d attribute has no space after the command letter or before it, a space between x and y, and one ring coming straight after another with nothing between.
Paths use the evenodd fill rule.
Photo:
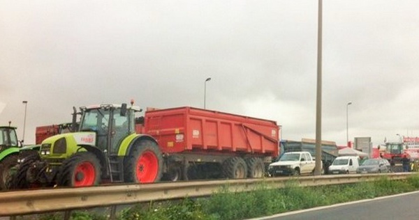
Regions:
<instances>
[{"instance_id":1,"label":"grey asphalt road in the bottom right corner beyond the grass","mask_svg":"<svg viewBox=\"0 0 419 220\"><path fill-rule=\"evenodd\" d=\"M327 207L317 207L277 214L259 220L295 220L295 219L419 219L419 191L385 196L351 203L342 203ZM256 219L253 219L256 220Z\"/></svg>"}]
</instances>

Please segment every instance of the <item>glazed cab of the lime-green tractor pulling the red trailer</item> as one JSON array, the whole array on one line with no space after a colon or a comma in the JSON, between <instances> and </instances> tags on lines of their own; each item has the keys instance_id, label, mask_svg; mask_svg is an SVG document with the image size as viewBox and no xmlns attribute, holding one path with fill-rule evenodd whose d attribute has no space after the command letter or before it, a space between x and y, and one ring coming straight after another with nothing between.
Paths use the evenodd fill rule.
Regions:
<instances>
[{"instance_id":1,"label":"glazed cab of the lime-green tractor pulling the red trailer","mask_svg":"<svg viewBox=\"0 0 419 220\"><path fill-rule=\"evenodd\" d=\"M135 112L138 107L126 104L101 104L82 107L79 132L95 132L95 145L103 152L117 154L118 147L126 136L135 133Z\"/></svg>"}]
</instances>

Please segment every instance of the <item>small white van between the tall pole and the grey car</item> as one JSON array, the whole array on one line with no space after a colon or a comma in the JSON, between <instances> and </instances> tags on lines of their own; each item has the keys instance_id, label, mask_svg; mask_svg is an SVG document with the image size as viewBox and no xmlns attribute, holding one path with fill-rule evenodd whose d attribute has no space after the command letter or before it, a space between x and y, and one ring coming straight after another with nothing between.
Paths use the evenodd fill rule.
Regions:
<instances>
[{"instance_id":1,"label":"small white van between the tall pole and the grey car","mask_svg":"<svg viewBox=\"0 0 419 220\"><path fill-rule=\"evenodd\" d=\"M360 166L360 157L341 156L336 157L332 165L329 166L329 174L356 173L356 168Z\"/></svg>"}]
</instances>

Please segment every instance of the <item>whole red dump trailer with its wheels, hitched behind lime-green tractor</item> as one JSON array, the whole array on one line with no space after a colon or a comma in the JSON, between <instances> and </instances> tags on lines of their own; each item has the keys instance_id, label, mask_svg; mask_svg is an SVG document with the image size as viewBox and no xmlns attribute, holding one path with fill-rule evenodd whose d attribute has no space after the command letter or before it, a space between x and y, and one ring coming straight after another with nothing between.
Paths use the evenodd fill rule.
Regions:
<instances>
[{"instance_id":1,"label":"whole red dump trailer with its wheels, hitched behind lime-green tractor","mask_svg":"<svg viewBox=\"0 0 419 220\"><path fill-rule=\"evenodd\" d=\"M193 107L145 112L164 158L163 180L261 178L278 156L275 121Z\"/></svg>"}]
</instances>

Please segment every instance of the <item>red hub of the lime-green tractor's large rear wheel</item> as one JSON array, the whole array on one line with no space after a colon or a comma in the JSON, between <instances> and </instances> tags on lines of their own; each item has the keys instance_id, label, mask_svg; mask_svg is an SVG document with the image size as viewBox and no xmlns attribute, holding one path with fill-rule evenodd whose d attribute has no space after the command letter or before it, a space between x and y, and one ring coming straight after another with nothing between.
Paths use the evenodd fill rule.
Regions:
<instances>
[{"instance_id":1,"label":"red hub of the lime-green tractor's large rear wheel","mask_svg":"<svg viewBox=\"0 0 419 220\"><path fill-rule=\"evenodd\" d=\"M154 182L159 171L159 160L154 152L145 151L138 157L135 166L138 182Z\"/></svg>"}]
</instances>

